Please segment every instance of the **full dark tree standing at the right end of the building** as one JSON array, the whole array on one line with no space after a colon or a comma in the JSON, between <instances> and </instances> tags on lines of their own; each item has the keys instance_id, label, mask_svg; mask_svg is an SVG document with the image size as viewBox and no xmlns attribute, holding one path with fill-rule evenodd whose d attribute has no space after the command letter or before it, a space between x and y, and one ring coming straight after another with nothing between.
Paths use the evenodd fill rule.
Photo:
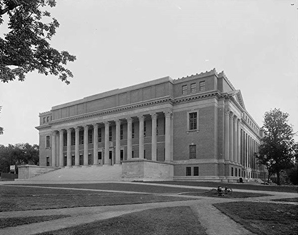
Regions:
<instances>
[{"instance_id":1,"label":"full dark tree standing at the right end of the building","mask_svg":"<svg viewBox=\"0 0 298 235\"><path fill-rule=\"evenodd\" d=\"M280 171L293 166L296 144L293 128L287 124L289 114L280 109L271 109L264 115L264 138L256 157L264 164L269 172L268 180L274 173L277 184L280 185Z\"/></svg>"}]
</instances>

